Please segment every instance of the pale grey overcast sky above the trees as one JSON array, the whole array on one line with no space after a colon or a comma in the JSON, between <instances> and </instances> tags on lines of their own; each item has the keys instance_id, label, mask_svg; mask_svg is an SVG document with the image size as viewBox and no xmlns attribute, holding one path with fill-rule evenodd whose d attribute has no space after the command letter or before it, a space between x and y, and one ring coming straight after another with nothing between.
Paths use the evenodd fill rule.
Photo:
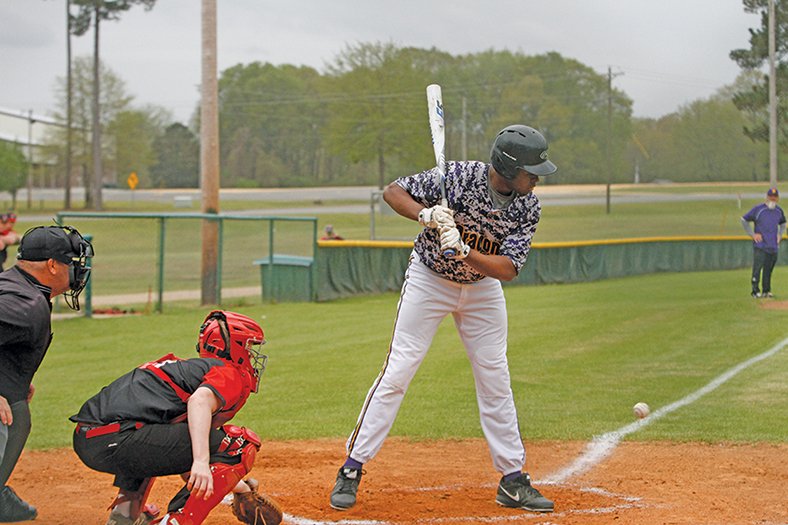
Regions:
<instances>
[{"instance_id":1,"label":"pale grey overcast sky above the trees","mask_svg":"<svg viewBox=\"0 0 788 525\"><path fill-rule=\"evenodd\" d=\"M348 44L392 42L452 54L557 51L659 117L739 73L756 15L741 0L217 0L219 70L254 61L322 70ZM136 105L187 121L199 99L200 0L158 0L101 25L102 60ZM74 38L92 53L92 31ZM0 108L49 114L65 76L65 0L0 0Z\"/></svg>"}]
</instances>

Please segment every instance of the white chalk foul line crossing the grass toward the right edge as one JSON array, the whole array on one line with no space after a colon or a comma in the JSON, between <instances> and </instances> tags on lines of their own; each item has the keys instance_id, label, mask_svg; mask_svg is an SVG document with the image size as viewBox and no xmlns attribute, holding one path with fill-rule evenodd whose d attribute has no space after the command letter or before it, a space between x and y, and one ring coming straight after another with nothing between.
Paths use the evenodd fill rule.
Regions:
<instances>
[{"instance_id":1,"label":"white chalk foul line crossing the grass toward the right edge","mask_svg":"<svg viewBox=\"0 0 788 525\"><path fill-rule=\"evenodd\" d=\"M746 370L750 366L763 361L764 359L768 359L772 357L777 352L785 348L788 345L788 338L783 339L776 345L774 345L769 350L763 352L762 354L756 355L738 365L734 366L727 372L717 376L705 386L699 388L695 392L675 401L669 405L666 405L654 412L652 412L648 417L635 421L634 423L630 423L624 427L619 428L618 430L614 430L612 432L608 432L606 434L602 434L601 436L595 436L594 439L586 445L585 452L576 458L571 464L563 469L559 470L558 472L547 476L545 479L540 480L540 483L551 485L551 484L559 484L564 483L567 479L582 474L591 468L593 468L596 464L600 461L608 457L610 454L613 453L613 450L618 446L618 443L624 436L632 434L633 432L637 432L641 428L650 425L654 421L670 414L687 406L691 403L694 403L701 397L705 396L709 392L714 391L720 385L726 383L737 374Z\"/></svg>"}]
</instances>

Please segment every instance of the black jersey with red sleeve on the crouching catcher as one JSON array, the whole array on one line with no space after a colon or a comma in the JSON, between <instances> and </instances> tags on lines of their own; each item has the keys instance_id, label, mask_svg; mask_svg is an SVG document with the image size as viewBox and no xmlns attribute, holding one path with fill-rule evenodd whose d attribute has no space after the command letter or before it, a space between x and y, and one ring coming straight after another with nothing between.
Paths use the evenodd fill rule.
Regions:
<instances>
[{"instance_id":1,"label":"black jersey with red sleeve on the crouching catcher","mask_svg":"<svg viewBox=\"0 0 788 525\"><path fill-rule=\"evenodd\" d=\"M188 396L201 386L221 400L219 414L229 420L246 403L252 385L248 374L222 359L180 359L168 354L105 386L70 419L88 425L182 421Z\"/></svg>"}]
</instances>

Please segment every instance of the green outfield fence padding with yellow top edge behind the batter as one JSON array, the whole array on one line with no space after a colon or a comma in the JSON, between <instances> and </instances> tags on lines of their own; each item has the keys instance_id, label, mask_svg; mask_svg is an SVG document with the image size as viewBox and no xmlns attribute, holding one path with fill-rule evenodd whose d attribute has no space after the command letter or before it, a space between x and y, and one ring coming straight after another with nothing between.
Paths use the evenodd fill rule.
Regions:
<instances>
[{"instance_id":1,"label":"green outfield fence padding with yellow top edge behind the batter","mask_svg":"<svg viewBox=\"0 0 788 525\"><path fill-rule=\"evenodd\" d=\"M341 242L318 246L317 300L397 291L412 247ZM786 242L777 264L788 264ZM504 285L596 281L656 272L732 270L752 265L743 237L535 244L525 267Z\"/></svg>"}]
</instances>

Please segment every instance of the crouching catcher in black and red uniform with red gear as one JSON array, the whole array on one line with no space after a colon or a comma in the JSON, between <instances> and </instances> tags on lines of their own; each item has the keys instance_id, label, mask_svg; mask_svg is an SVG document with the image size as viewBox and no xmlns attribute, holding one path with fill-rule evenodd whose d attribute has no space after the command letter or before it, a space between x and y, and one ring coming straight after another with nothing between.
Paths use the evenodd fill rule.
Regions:
<instances>
[{"instance_id":1,"label":"crouching catcher in black and red uniform with red gear","mask_svg":"<svg viewBox=\"0 0 788 525\"><path fill-rule=\"evenodd\" d=\"M257 392L267 356L263 330L234 312L211 312L200 327L200 357L172 354L116 379L71 417L74 450L90 468L115 474L118 497L107 525L145 525L157 511L145 500L154 477L188 482L161 525L199 525L241 479L260 447L257 435L226 423Z\"/></svg>"}]
</instances>

